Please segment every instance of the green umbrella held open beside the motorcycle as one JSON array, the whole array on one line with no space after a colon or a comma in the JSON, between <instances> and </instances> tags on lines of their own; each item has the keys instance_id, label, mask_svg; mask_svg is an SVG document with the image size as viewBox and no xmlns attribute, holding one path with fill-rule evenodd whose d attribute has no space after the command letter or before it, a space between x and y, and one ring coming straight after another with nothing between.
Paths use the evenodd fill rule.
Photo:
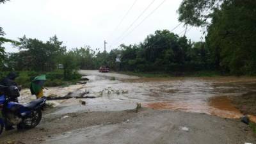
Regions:
<instances>
[{"instance_id":1,"label":"green umbrella held open beside the motorcycle","mask_svg":"<svg viewBox=\"0 0 256 144\"><path fill-rule=\"evenodd\" d=\"M33 79L30 85L30 92L32 95L39 93L42 87L44 86L44 82L46 80L45 75L37 76Z\"/></svg>"}]
</instances>

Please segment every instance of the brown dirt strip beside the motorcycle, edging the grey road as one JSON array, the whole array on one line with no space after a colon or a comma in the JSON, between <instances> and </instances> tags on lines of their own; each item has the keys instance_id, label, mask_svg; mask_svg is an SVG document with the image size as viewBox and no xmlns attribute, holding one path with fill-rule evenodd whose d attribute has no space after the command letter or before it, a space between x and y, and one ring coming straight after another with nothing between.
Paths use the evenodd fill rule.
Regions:
<instances>
[{"instance_id":1,"label":"brown dirt strip beside the motorcycle, edging the grey road","mask_svg":"<svg viewBox=\"0 0 256 144\"><path fill-rule=\"evenodd\" d=\"M49 112L46 112L49 113ZM124 122L137 116L134 111L84 112L65 115L47 115L40 125L28 131L7 131L0 136L0 143L41 143L54 134L93 125L107 125ZM44 116L44 114L43 114Z\"/></svg>"}]
</instances>

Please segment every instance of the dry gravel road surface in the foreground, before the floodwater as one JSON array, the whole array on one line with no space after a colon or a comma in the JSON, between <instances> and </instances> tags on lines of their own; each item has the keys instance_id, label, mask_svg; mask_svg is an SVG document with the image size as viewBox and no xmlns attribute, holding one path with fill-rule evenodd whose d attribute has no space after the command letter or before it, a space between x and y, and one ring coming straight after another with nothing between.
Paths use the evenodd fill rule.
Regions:
<instances>
[{"instance_id":1,"label":"dry gravel road surface in the foreground, before the floodwater","mask_svg":"<svg viewBox=\"0 0 256 144\"><path fill-rule=\"evenodd\" d=\"M64 118L67 117L67 118ZM188 131L182 128L188 128ZM239 120L143 108L49 115L35 129L4 132L0 143L256 143Z\"/></svg>"}]
</instances>

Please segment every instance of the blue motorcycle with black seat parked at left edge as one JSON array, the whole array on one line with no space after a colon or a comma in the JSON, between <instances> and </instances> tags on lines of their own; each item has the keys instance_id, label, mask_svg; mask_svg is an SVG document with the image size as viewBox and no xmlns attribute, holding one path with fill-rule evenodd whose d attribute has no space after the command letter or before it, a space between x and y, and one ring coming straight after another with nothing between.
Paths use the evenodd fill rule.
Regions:
<instances>
[{"instance_id":1,"label":"blue motorcycle with black seat parked at left edge","mask_svg":"<svg viewBox=\"0 0 256 144\"><path fill-rule=\"evenodd\" d=\"M17 90L17 86L0 85L0 134L6 124L17 125L17 129L31 129L42 119L41 108L46 102L46 97L22 105L10 101L10 93L17 93Z\"/></svg>"}]
</instances>

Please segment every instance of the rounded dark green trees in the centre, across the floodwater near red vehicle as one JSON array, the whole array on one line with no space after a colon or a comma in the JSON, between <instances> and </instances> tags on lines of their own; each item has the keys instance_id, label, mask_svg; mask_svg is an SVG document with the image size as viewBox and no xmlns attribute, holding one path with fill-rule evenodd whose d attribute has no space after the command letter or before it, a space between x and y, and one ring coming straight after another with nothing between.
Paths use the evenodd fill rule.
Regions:
<instances>
[{"instance_id":1,"label":"rounded dark green trees in the centre, across the floodwater near red vehicle","mask_svg":"<svg viewBox=\"0 0 256 144\"><path fill-rule=\"evenodd\" d=\"M121 70L179 73L210 68L204 42L191 43L168 30L156 31L140 45L121 47Z\"/></svg>"}]
</instances>

